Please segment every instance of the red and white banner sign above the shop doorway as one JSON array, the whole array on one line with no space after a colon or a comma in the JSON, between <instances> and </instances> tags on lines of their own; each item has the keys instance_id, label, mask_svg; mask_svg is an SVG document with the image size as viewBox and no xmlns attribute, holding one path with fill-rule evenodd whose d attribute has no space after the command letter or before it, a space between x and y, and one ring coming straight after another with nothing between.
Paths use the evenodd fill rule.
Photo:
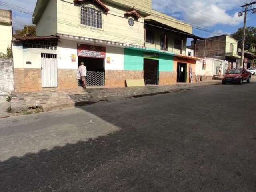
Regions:
<instances>
[{"instance_id":1,"label":"red and white banner sign above the shop doorway","mask_svg":"<svg viewBox=\"0 0 256 192\"><path fill-rule=\"evenodd\" d=\"M94 45L77 45L78 57L93 57L93 58L106 58L106 47L99 47Z\"/></svg>"}]
</instances>

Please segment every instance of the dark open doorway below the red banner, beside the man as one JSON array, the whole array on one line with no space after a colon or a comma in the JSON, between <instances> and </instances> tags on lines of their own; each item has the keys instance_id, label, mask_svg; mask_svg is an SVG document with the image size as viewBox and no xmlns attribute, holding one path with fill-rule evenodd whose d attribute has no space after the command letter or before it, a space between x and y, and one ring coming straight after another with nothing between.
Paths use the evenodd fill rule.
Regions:
<instances>
[{"instance_id":1,"label":"dark open doorway below the red banner, beside the man","mask_svg":"<svg viewBox=\"0 0 256 192\"><path fill-rule=\"evenodd\" d=\"M81 62L86 66L86 85L104 86L105 85L105 64L102 58L78 57L78 67Z\"/></svg>"}]
</instances>

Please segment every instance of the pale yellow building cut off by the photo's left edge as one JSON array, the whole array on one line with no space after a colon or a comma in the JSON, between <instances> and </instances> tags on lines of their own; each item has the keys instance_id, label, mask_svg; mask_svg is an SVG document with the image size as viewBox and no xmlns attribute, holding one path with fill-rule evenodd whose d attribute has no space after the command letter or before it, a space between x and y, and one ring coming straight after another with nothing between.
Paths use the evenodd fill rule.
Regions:
<instances>
[{"instance_id":1,"label":"pale yellow building cut off by the photo's left edge","mask_svg":"<svg viewBox=\"0 0 256 192\"><path fill-rule=\"evenodd\" d=\"M6 54L12 44L12 11L0 9L0 53Z\"/></svg>"}]
</instances>

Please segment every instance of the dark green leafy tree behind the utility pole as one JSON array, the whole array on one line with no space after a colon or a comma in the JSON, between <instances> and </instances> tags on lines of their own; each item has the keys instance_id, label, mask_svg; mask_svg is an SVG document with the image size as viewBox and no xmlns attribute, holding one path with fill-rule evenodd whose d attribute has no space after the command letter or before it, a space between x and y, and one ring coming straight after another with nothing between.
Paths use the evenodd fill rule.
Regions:
<instances>
[{"instance_id":1,"label":"dark green leafy tree behind the utility pole","mask_svg":"<svg viewBox=\"0 0 256 192\"><path fill-rule=\"evenodd\" d=\"M233 33L232 38L238 40L238 48L242 48L243 28L239 28ZM256 27L247 27L244 49L249 51L251 47L256 47Z\"/></svg>"}]
</instances>

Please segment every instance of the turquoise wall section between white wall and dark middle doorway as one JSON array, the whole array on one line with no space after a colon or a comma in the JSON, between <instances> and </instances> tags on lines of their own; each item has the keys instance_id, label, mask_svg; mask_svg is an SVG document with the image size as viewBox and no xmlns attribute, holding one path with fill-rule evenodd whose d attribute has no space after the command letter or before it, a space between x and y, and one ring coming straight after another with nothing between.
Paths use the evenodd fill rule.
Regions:
<instances>
[{"instance_id":1,"label":"turquoise wall section between white wall and dark middle doorway","mask_svg":"<svg viewBox=\"0 0 256 192\"><path fill-rule=\"evenodd\" d=\"M124 70L143 71L143 52L124 49Z\"/></svg>"}]
</instances>

